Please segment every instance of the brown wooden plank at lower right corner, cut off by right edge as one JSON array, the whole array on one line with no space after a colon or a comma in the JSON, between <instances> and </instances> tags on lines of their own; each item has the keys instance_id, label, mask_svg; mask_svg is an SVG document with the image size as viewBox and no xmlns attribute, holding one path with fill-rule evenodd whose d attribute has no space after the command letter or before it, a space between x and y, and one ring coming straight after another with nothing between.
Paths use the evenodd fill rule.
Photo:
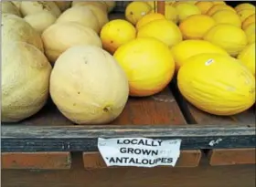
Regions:
<instances>
[{"instance_id":1,"label":"brown wooden plank at lower right corner, cut off by right edge","mask_svg":"<svg viewBox=\"0 0 256 187\"><path fill-rule=\"evenodd\" d=\"M251 149L219 149L208 153L209 164L216 165L234 165L234 164L255 164L255 148Z\"/></svg>"}]
</instances>

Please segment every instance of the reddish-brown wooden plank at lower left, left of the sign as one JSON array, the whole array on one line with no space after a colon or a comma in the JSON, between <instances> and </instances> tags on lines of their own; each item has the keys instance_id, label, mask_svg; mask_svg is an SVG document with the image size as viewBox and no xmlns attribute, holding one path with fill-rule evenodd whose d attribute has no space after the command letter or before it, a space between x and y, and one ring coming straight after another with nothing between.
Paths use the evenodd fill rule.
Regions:
<instances>
[{"instance_id":1,"label":"reddish-brown wooden plank at lower left, left of the sign","mask_svg":"<svg viewBox=\"0 0 256 187\"><path fill-rule=\"evenodd\" d=\"M1 153L2 169L70 169L69 152L4 152Z\"/></svg>"}]
</instances>

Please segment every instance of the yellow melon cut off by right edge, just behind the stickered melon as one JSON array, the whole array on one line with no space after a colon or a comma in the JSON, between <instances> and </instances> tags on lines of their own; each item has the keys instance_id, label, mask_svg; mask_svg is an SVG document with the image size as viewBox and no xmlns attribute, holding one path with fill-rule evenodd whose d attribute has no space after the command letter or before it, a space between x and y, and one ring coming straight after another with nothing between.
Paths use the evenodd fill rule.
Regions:
<instances>
[{"instance_id":1,"label":"yellow melon cut off by right edge, just behind the stickered melon","mask_svg":"<svg viewBox=\"0 0 256 187\"><path fill-rule=\"evenodd\" d=\"M251 70L255 77L255 42L245 47L238 56L238 59Z\"/></svg>"}]
</instances>

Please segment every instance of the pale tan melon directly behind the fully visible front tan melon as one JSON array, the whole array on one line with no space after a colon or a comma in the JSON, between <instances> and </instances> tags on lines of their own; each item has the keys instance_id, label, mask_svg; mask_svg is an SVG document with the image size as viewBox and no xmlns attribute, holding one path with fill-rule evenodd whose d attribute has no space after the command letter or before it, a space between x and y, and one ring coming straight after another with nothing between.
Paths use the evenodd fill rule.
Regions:
<instances>
[{"instance_id":1,"label":"pale tan melon directly behind the fully visible front tan melon","mask_svg":"<svg viewBox=\"0 0 256 187\"><path fill-rule=\"evenodd\" d=\"M42 34L46 55L54 63L59 55L69 47L91 45L102 47L101 38L89 27L75 22L56 23Z\"/></svg>"}]
</instances>

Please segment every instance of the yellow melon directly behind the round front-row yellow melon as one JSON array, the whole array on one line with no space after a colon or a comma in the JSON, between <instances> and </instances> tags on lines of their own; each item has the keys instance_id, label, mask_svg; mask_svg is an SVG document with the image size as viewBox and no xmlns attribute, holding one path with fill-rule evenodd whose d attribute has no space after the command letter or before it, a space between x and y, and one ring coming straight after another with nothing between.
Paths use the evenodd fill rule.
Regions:
<instances>
[{"instance_id":1,"label":"yellow melon directly behind the round front-row yellow melon","mask_svg":"<svg viewBox=\"0 0 256 187\"><path fill-rule=\"evenodd\" d=\"M182 34L178 26L166 19L155 20L142 26L138 30L137 37L154 37L168 47L173 47L182 41Z\"/></svg>"}]
</instances>

